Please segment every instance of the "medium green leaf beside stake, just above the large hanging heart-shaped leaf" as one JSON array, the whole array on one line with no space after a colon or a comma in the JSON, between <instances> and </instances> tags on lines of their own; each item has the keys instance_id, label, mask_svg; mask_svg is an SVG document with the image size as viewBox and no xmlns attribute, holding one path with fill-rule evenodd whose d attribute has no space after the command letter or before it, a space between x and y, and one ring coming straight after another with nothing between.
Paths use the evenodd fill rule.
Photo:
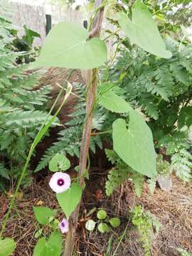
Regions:
<instances>
[{"instance_id":1,"label":"medium green leaf beside stake, just above the large hanging heart-shaped leaf","mask_svg":"<svg viewBox=\"0 0 192 256\"><path fill-rule=\"evenodd\" d=\"M98 97L99 102L103 107L106 107L107 110L116 113L127 113L132 110L132 107L126 102L122 97L116 95L112 90L101 93Z\"/></svg>"}]
</instances>

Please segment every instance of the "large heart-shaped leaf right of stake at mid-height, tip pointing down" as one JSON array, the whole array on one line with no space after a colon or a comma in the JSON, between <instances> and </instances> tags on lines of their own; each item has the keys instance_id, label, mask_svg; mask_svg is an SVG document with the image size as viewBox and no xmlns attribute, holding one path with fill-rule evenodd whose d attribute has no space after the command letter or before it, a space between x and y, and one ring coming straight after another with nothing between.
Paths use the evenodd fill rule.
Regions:
<instances>
[{"instance_id":1,"label":"large heart-shaped leaf right of stake at mid-height, tip pointing down","mask_svg":"<svg viewBox=\"0 0 192 256\"><path fill-rule=\"evenodd\" d=\"M117 119L112 124L114 151L119 157L140 174L156 176L156 153L151 129L139 113L129 113L129 124Z\"/></svg>"}]
</instances>

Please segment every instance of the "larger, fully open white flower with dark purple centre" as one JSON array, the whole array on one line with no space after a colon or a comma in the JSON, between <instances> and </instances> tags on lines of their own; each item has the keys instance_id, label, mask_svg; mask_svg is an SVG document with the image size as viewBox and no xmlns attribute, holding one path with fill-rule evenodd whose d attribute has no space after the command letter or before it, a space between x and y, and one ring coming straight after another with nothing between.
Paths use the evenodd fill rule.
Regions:
<instances>
[{"instance_id":1,"label":"larger, fully open white flower with dark purple centre","mask_svg":"<svg viewBox=\"0 0 192 256\"><path fill-rule=\"evenodd\" d=\"M62 172L55 172L50 178L49 186L55 193L63 193L70 188L70 176Z\"/></svg>"}]
</instances>

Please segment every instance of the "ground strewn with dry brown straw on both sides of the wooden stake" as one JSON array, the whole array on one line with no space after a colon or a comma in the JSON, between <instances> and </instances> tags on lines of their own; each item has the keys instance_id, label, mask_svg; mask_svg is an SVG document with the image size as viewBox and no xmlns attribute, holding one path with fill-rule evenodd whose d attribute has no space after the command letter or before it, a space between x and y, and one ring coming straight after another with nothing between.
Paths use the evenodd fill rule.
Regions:
<instances>
[{"instance_id":1,"label":"ground strewn with dry brown straw on both sides of the wooden stake","mask_svg":"<svg viewBox=\"0 0 192 256\"><path fill-rule=\"evenodd\" d=\"M163 227L158 235L154 237L151 255L179 255L176 248L182 247L188 251L192 250L192 185L183 185L178 178L173 178L173 191L165 193L156 188L154 195L149 195L146 188L141 198L136 198L132 191L132 184L127 181L121 188L114 192L110 198L105 197L105 179L107 171L93 168L90 174L90 181L87 183L85 196L82 201L81 213L76 235L76 255L100 255L104 256L107 247L110 248L108 255L144 255L142 246L139 243L137 230L129 220L129 210L136 204L142 204L145 210L150 210L156 215ZM35 179L30 187L21 191L22 198L16 200L14 209L11 212L6 233L17 241L15 256L33 255L33 247L36 244L34 234L37 230L36 220L33 215L33 206L40 201L43 206L59 208L55 194L48 188L49 176L37 182ZM9 204L9 196L1 195L1 216L6 213ZM119 216L122 220L120 228L112 233L101 235L97 231L93 233L85 230L85 215L92 208L105 208L108 215ZM59 218L63 213L58 211ZM95 219L93 213L92 219ZM124 228L128 225L126 235L120 242ZM49 235L50 230L44 230ZM109 245L109 240L111 244Z\"/></svg>"}]
</instances>

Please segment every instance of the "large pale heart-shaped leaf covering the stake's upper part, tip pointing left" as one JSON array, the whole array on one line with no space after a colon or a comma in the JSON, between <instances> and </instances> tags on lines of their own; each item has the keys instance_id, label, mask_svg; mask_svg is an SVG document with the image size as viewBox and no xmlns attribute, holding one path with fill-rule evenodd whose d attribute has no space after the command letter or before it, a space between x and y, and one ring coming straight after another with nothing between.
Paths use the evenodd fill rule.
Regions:
<instances>
[{"instance_id":1,"label":"large pale heart-shaped leaf covering the stake's upper part, tip pointing left","mask_svg":"<svg viewBox=\"0 0 192 256\"><path fill-rule=\"evenodd\" d=\"M107 60L107 48L99 38L75 23L62 22L48 33L38 60L31 68L97 68Z\"/></svg>"}]
</instances>

